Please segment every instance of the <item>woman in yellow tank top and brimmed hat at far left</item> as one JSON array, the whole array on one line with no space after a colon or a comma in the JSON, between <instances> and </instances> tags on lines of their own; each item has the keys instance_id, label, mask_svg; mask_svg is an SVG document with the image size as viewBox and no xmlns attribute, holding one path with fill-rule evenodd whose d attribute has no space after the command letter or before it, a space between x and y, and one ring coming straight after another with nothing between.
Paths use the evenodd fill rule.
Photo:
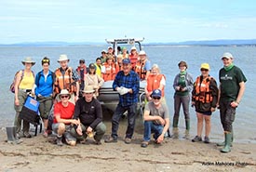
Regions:
<instances>
[{"instance_id":1,"label":"woman in yellow tank top and brimmed hat at far left","mask_svg":"<svg viewBox=\"0 0 256 172\"><path fill-rule=\"evenodd\" d=\"M16 76L15 81L15 100L14 100L14 109L16 111L14 126L17 126L17 136L31 138L29 133L30 123L20 119L20 112L22 110L23 104L27 99L28 94L34 94L34 72L32 71L32 66L35 62L32 58L27 57L21 61L25 69L20 70ZM21 121L23 121L23 129L21 132Z\"/></svg>"}]
</instances>

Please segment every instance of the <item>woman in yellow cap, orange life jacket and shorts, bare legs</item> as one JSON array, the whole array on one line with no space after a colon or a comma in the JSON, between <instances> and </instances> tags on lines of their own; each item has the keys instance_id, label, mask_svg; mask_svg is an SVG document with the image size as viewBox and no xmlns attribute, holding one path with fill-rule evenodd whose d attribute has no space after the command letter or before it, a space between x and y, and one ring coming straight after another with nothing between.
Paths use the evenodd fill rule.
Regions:
<instances>
[{"instance_id":1,"label":"woman in yellow cap, orange life jacket and shorts, bare legs","mask_svg":"<svg viewBox=\"0 0 256 172\"><path fill-rule=\"evenodd\" d=\"M210 115L215 111L219 89L215 79L209 76L209 64L201 64L201 75L195 80L192 91L192 106L197 116L197 135L193 142L202 141L203 123L205 121L205 143L209 143Z\"/></svg>"}]
</instances>

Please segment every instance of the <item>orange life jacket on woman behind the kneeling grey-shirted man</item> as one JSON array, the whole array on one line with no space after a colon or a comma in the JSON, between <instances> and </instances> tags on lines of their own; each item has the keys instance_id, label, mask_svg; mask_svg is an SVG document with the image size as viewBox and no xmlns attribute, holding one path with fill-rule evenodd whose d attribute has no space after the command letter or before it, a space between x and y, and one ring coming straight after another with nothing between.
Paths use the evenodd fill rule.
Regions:
<instances>
[{"instance_id":1,"label":"orange life jacket on woman behind the kneeling grey-shirted man","mask_svg":"<svg viewBox=\"0 0 256 172\"><path fill-rule=\"evenodd\" d=\"M162 77L166 79L166 76L164 74L150 74L147 78L147 90L148 92L153 91L154 89L158 89L160 86L160 82L162 80ZM162 97L165 96L164 87L162 88Z\"/></svg>"}]
</instances>

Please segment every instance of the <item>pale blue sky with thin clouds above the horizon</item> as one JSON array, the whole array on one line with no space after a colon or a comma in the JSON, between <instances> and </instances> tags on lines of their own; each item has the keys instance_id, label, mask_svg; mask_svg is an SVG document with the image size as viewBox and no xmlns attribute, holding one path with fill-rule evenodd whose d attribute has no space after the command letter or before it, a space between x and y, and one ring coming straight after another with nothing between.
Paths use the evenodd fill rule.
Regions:
<instances>
[{"instance_id":1,"label":"pale blue sky with thin clouds above the horizon","mask_svg":"<svg viewBox=\"0 0 256 172\"><path fill-rule=\"evenodd\" d=\"M254 0L1 0L0 44L255 39Z\"/></svg>"}]
</instances>

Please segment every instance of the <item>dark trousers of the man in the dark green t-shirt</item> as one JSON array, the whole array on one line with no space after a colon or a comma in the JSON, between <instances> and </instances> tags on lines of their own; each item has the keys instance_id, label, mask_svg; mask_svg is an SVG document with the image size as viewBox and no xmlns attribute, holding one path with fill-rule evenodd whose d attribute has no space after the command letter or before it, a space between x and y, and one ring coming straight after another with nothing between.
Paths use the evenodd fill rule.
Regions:
<instances>
[{"instance_id":1,"label":"dark trousers of the man in the dark green t-shirt","mask_svg":"<svg viewBox=\"0 0 256 172\"><path fill-rule=\"evenodd\" d=\"M232 132L232 123L235 121L236 108L231 107L231 101L220 101L221 122L224 131Z\"/></svg>"}]
</instances>

